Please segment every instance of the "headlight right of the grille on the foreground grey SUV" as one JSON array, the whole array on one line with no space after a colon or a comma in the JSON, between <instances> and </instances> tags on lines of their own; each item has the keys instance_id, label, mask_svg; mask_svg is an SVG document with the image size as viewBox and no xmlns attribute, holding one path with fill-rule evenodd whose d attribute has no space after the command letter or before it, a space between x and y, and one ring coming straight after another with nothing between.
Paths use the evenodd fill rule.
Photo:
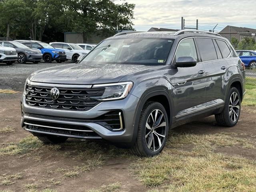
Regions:
<instances>
[{"instance_id":1,"label":"headlight right of the grille on the foreground grey SUV","mask_svg":"<svg viewBox=\"0 0 256 192\"><path fill-rule=\"evenodd\" d=\"M109 84L96 84L92 88L105 88L102 96L90 97L99 101L117 100L126 98L132 89L133 82L120 82L120 83L109 83Z\"/></svg>"}]
</instances>

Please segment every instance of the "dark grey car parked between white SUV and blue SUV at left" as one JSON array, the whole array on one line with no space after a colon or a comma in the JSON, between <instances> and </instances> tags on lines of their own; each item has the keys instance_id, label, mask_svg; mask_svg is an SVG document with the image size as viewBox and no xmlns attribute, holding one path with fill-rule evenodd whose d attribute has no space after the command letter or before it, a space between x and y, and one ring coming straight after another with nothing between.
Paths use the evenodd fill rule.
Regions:
<instances>
[{"instance_id":1,"label":"dark grey car parked between white SUV and blue SUV at left","mask_svg":"<svg viewBox=\"0 0 256 192\"><path fill-rule=\"evenodd\" d=\"M42 60L42 53L38 49L31 49L28 46L16 41L0 41L3 47L14 48L18 54L18 62L25 64L26 62L39 63Z\"/></svg>"}]
</instances>

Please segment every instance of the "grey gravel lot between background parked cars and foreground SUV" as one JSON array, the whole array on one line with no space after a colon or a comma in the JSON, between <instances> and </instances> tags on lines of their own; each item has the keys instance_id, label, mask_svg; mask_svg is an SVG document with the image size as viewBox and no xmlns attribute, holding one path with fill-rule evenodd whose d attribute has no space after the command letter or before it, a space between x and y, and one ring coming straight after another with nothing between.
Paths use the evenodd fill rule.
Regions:
<instances>
[{"instance_id":1,"label":"grey gravel lot between background parked cars and foreground SUV","mask_svg":"<svg viewBox=\"0 0 256 192\"><path fill-rule=\"evenodd\" d=\"M4 63L0 63L0 89L11 89L16 91L23 91L24 83L28 76L40 69L60 66L70 64L71 62L63 62L63 63L44 63L40 62L38 64L27 63L27 64L19 64L15 62L12 65L6 65Z\"/></svg>"}]
</instances>

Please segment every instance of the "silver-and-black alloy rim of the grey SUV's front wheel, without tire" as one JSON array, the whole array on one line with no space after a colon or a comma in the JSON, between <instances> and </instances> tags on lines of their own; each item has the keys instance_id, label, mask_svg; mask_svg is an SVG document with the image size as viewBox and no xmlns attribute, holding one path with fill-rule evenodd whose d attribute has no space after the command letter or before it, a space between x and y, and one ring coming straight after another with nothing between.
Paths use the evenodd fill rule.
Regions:
<instances>
[{"instance_id":1,"label":"silver-and-black alloy rim of the grey SUV's front wheel, without tire","mask_svg":"<svg viewBox=\"0 0 256 192\"><path fill-rule=\"evenodd\" d=\"M166 137L166 119L161 110L153 110L146 121L145 140L150 151L161 148Z\"/></svg>"}]
</instances>

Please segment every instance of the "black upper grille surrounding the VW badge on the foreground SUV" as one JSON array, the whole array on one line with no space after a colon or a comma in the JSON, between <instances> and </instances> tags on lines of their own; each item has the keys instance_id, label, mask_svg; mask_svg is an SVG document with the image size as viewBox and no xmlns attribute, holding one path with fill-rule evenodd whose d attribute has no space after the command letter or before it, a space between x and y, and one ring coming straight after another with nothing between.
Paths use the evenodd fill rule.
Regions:
<instances>
[{"instance_id":1,"label":"black upper grille surrounding the VW badge on the foreground SUV","mask_svg":"<svg viewBox=\"0 0 256 192\"><path fill-rule=\"evenodd\" d=\"M104 92L104 88L58 88L60 96L53 100L50 97L52 88L27 84L26 104L38 108L88 111L100 103L90 97L102 96Z\"/></svg>"}]
</instances>

